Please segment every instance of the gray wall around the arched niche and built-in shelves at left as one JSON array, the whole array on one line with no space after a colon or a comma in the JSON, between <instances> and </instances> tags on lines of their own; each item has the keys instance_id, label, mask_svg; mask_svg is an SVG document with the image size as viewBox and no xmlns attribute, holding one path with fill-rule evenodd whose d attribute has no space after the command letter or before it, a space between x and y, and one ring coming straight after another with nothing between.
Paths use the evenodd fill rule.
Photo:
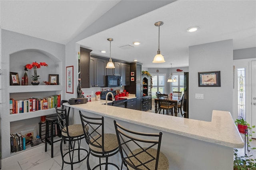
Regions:
<instances>
[{"instance_id":1,"label":"gray wall around the arched niche and built-in shelves at left","mask_svg":"<svg viewBox=\"0 0 256 170\"><path fill-rule=\"evenodd\" d=\"M32 63L34 61L44 62L39 60L38 57L50 57L51 60L48 60L46 57L46 62L51 61L49 67L40 68L40 81L45 81L48 79L48 74L59 74L59 83L62 86L60 91L65 90L65 45L60 43L54 43L46 40L42 40L39 38L34 38L31 36L26 36L23 34L19 34L16 32L10 32L7 30L1 30L2 32L2 51L0 58L0 117L1 117L1 146L2 146L2 158L6 158L10 156L10 121L12 117L10 117L10 97L8 93L9 76L10 71L14 71L19 73L19 77L21 78L24 75L24 63ZM18 52L18 53L17 53ZM22 57L19 58L18 57ZM30 57L30 58L28 58ZM20 61L20 62L15 62ZM36 60L35 60L36 59ZM10 64L10 62L12 62ZM57 63L57 64L56 64ZM55 68L57 67L57 69ZM53 68L53 69L51 69ZM58 71L57 71L58 70ZM32 73L31 70L28 71L29 80ZM21 80L20 80L21 82ZM29 82L30 83L30 82ZM19 87L17 87L19 88ZM42 93L41 93L42 94ZM62 93L65 94L65 93ZM31 96L32 97L32 96ZM64 97L62 95L62 97ZM63 98L62 98L63 99ZM35 113L36 114L36 113ZM34 119L33 119L34 120ZM32 122L35 123L35 122ZM24 121L25 127L31 122ZM38 121L36 122L38 125ZM28 126L29 126L28 125Z\"/></svg>"}]
</instances>

